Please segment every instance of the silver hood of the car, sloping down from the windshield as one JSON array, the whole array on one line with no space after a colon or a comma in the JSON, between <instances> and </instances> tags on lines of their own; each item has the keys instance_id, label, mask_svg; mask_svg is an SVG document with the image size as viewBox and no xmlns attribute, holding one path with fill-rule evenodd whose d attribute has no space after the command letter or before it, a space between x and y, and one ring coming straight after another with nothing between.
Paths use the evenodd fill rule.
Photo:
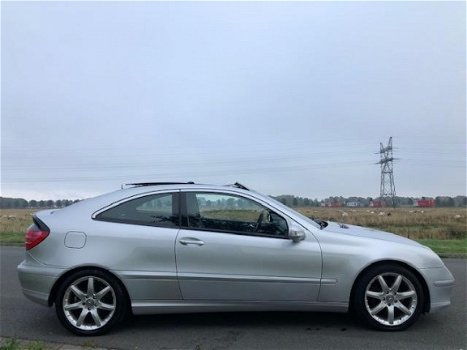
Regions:
<instances>
[{"instance_id":1,"label":"silver hood of the car, sloping down from the windshield","mask_svg":"<svg viewBox=\"0 0 467 350\"><path fill-rule=\"evenodd\" d=\"M401 244L408 244L417 247L423 247L421 244L412 241L411 239L398 236L394 233L384 232L380 230L375 230L367 227L356 226L356 225L348 225L348 224L338 224L336 222L327 221L328 226L326 226L323 231L327 232L334 232L345 234L349 236L357 236L357 237L364 237L364 238L373 238L379 239L382 241L389 241Z\"/></svg>"}]
</instances>

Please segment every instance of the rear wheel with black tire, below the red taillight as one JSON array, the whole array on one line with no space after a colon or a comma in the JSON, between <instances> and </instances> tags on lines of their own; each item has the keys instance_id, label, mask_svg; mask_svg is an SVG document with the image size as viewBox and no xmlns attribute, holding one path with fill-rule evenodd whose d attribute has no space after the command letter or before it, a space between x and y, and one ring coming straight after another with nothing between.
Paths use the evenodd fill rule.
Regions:
<instances>
[{"instance_id":1,"label":"rear wheel with black tire, below the red taillight","mask_svg":"<svg viewBox=\"0 0 467 350\"><path fill-rule=\"evenodd\" d=\"M95 336L108 332L126 315L128 302L119 281L101 270L78 271L63 280L55 311L71 332Z\"/></svg>"}]
</instances>

